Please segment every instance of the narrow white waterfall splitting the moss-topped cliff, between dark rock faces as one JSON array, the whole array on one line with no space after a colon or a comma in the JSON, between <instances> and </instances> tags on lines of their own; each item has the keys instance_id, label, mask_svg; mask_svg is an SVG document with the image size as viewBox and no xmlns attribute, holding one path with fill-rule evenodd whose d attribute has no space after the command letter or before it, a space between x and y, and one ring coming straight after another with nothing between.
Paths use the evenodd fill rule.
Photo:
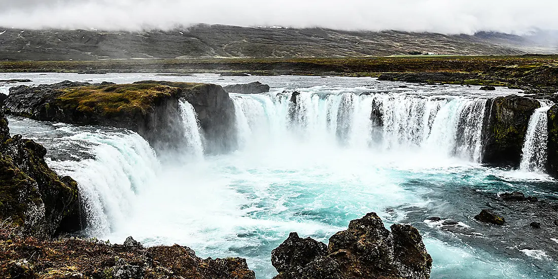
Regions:
<instances>
[{"instance_id":1,"label":"narrow white waterfall splitting the moss-topped cliff, between dark rock faces","mask_svg":"<svg viewBox=\"0 0 558 279\"><path fill-rule=\"evenodd\" d=\"M179 109L182 124L184 125L184 139L187 151L191 152L196 158L201 158L204 155L204 146L196 111L190 103L184 100L179 100Z\"/></svg>"}]
</instances>

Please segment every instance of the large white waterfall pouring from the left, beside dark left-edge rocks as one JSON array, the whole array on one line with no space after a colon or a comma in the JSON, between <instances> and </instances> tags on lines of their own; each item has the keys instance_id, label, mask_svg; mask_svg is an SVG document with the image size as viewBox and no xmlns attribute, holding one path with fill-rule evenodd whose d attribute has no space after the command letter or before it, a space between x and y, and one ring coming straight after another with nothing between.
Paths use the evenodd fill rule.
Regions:
<instances>
[{"instance_id":1,"label":"large white waterfall pouring from the left, beside dark left-edge rocks","mask_svg":"<svg viewBox=\"0 0 558 279\"><path fill-rule=\"evenodd\" d=\"M155 180L160 169L155 152L133 132L78 132L62 140L81 143L95 158L49 161L49 166L78 181L87 233L112 232L128 218L137 195Z\"/></svg>"}]
</instances>

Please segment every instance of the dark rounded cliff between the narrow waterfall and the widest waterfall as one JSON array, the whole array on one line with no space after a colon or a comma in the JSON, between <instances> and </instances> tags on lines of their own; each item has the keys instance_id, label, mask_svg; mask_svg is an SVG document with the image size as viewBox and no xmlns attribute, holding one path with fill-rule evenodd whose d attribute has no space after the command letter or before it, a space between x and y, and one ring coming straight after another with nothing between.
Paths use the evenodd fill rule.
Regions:
<instances>
[{"instance_id":1,"label":"dark rounded cliff between the narrow waterfall and the widest waterfall","mask_svg":"<svg viewBox=\"0 0 558 279\"><path fill-rule=\"evenodd\" d=\"M198 114L198 121L205 136L205 151L222 153L237 147L234 103L229 93L215 84L180 83L172 81L139 81L180 88L179 98L190 103Z\"/></svg>"}]
</instances>

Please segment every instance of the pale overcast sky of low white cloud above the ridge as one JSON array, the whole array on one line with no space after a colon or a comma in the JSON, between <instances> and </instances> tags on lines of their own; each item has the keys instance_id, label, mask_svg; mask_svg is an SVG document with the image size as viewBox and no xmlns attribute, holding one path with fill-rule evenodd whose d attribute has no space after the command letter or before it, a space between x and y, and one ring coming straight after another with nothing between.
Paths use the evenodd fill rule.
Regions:
<instances>
[{"instance_id":1,"label":"pale overcast sky of low white cloud above the ridge","mask_svg":"<svg viewBox=\"0 0 558 279\"><path fill-rule=\"evenodd\" d=\"M0 26L168 29L194 23L441 33L558 30L558 0L0 0Z\"/></svg>"}]
</instances>

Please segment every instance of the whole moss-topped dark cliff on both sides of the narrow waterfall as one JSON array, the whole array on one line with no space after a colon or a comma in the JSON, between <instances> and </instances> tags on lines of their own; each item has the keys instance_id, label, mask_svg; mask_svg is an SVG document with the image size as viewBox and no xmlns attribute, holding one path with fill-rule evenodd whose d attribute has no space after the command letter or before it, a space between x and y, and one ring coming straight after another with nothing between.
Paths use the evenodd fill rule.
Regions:
<instances>
[{"instance_id":1,"label":"whole moss-topped dark cliff on both sides of the narrow waterfall","mask_svg":"<svg viewBox=\"0 0 558 279\"><path fill-rule=\"evenodd\" d=\"M134 84L89 84L63 81L10 89L3 109L40 121L126 128L156 151L180 146L184 138L179 99L190 102L208 140L208 151L234 148L234 105L219 85L143 81Z\"/></svg>"}]
</instances>

